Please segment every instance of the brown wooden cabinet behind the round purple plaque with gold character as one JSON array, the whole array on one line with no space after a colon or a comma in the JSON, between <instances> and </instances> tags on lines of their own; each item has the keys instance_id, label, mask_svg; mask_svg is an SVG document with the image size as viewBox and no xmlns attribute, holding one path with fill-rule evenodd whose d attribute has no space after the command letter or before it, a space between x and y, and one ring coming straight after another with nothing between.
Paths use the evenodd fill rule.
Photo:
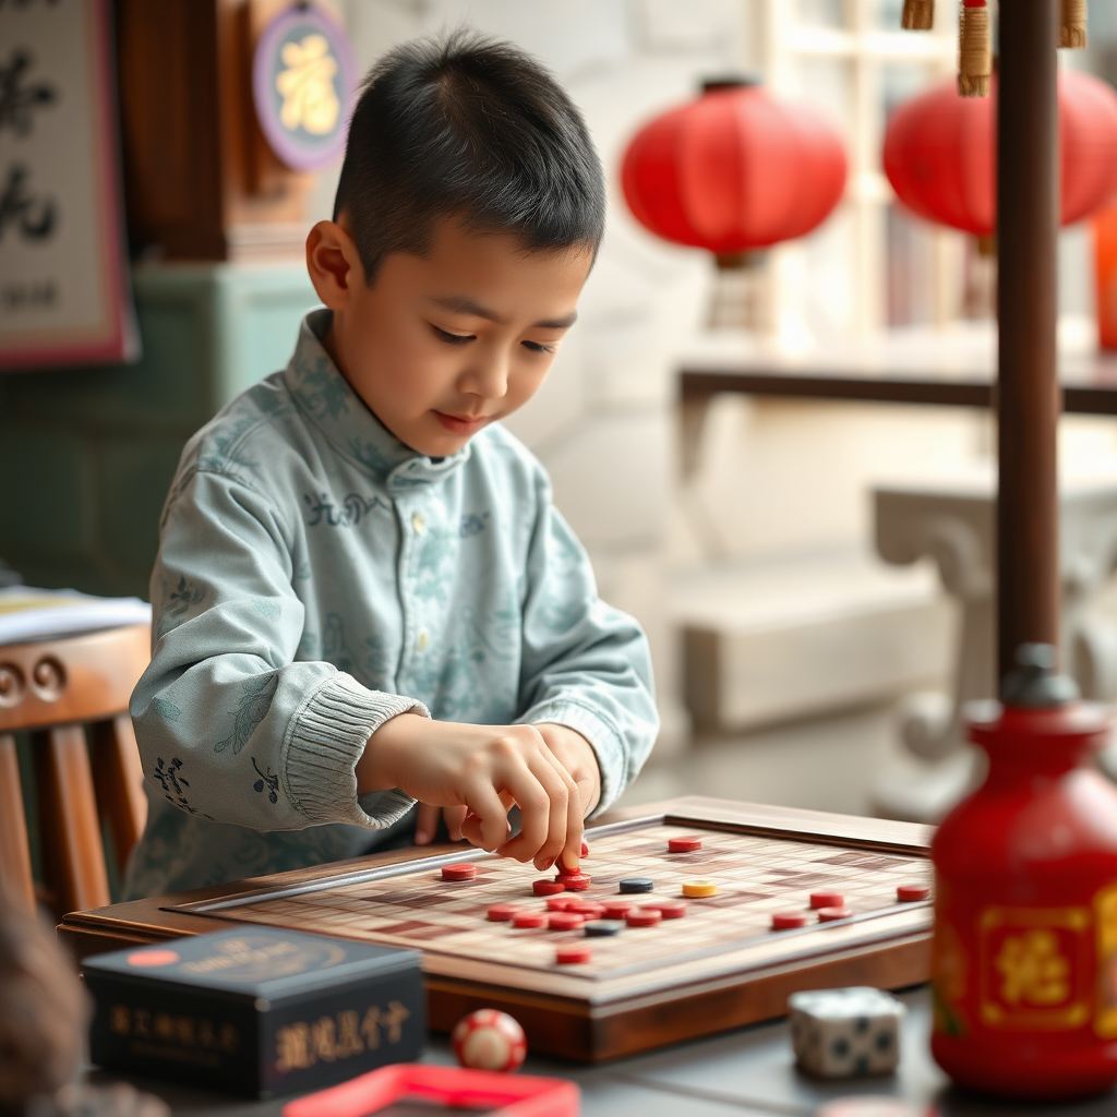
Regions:
<instances>
[{"instance_id":1,"label":"brown wooden cabinet behind the round purple plaque with gold character","mask_svg":"<svg viewBox=\"0 0 1117 1117\"><path fill-rule=\"evenodd\" d=\"M314 176L252 107L252 50L285 0L117 0L121 132L135 256L300 258Z\"/></svg>"}]
</instances>

